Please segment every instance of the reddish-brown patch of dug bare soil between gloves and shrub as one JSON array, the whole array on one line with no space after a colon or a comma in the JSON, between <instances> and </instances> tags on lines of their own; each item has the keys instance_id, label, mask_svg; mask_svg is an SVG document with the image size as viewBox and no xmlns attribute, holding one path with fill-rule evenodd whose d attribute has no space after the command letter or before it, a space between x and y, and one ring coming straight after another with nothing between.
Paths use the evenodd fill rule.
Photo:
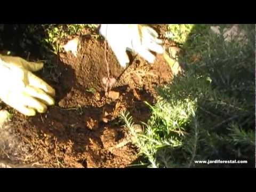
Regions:
<instances>
[{"instance_id":1,"label":"reddish-brown patch of dug bare soil between gloves and shrub","mask_svg":"<svg viewBox=\"0 0 256 192\"><path fill-rule=\"evenodd\" d=\"M77 58L59 54L50 78L49 71L37 74L56 90L55 106L35 117L15 111L9 128L17 143L5 148L3 158L42 167L126 167L137 159L131 143L115 147L128 137L119 112L128 110L137 124L147 122L144 101L155 102L154 86L170 81L171 68L162 55L153 65L137 55L124 70L108 47L110 75L121 76L108 97L102 84L107 77L103 41L86 38L79 47Z\"/></svg>"}]
</instances>

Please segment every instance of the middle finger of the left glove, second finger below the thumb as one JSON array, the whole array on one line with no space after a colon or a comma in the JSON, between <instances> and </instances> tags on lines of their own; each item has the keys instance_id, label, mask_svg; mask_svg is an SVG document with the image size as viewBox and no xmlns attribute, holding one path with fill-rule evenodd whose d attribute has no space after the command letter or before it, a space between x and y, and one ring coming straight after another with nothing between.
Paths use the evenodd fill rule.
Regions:
<instances>
[{"instance_id":1,"label":"middle finger of the left glove, second finger below the thumb","mask_svg":"<svg viewBox=\"0 0 256 192\"><path fill-rule=\"evenodd\" d=\"M40 99L46 105L54 105L54 99L37 87L26 86L25 93L31 97Z\"/></svg>"}]
</instances>

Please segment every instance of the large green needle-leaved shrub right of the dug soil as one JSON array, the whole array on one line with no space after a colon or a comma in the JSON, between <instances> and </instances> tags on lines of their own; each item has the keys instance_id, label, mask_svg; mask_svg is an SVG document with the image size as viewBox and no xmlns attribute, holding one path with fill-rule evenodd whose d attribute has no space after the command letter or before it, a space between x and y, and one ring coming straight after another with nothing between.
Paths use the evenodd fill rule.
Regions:
<instances>
[{"instance_id":1,"label":"large green needle-leaved shrub right of the dug soil","mask_svg":"<svg viewBox=\"0 0 256 192\"><path fill-rule=\"evenodd\" d=\"M179 61L189 62L195 53L200 59L189 62L172 83L156 89L159 99L149 106L152 114L145 131L134 141L147 158L143 163L150 163L149 167L255 166L255 26L240 27L246 31L247 44L225 42L209 30L201 34L205 25L191 30ZM248 163L194 162L208 159Z\"/></svg>"}]
</instances>

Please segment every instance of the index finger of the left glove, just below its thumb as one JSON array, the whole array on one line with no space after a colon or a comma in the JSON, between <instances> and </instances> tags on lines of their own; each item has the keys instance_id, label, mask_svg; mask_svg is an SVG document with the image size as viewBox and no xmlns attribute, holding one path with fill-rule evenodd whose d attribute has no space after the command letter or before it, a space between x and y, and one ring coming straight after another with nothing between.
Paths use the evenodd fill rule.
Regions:
<instances>
[{"instance_id":1,"label":"index finger of the left glove, just below its thumb","mask_svg":"<svg viewBox=\"0 0 256 192\"><path fill-rule=\"evenodd\" d=\"M55 96L55 90L34 74L28 73L28 81L30 86L42 89L45 91L45 93L50 94L52 97Z\"/></svg>"}]
</instances>

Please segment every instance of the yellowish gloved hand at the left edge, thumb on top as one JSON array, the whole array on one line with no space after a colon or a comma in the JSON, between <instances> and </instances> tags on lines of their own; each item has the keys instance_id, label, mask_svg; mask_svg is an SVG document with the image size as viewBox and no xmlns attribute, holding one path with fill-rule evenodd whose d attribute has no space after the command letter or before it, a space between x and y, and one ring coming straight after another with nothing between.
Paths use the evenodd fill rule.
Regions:
<instances>
[{"instance_id":1,"label":"yellowish gloved hand at the left edge, thumb on top","mask_svg":"<svg viewBox=\"0 0 256 192\"><path fill-rule=\"evenodd\" d=\"M43 63L0 54L0 99L24 115L44 113L54 105L55 90L31 73L42 68Z\"/></svg>"}]
</instances>

